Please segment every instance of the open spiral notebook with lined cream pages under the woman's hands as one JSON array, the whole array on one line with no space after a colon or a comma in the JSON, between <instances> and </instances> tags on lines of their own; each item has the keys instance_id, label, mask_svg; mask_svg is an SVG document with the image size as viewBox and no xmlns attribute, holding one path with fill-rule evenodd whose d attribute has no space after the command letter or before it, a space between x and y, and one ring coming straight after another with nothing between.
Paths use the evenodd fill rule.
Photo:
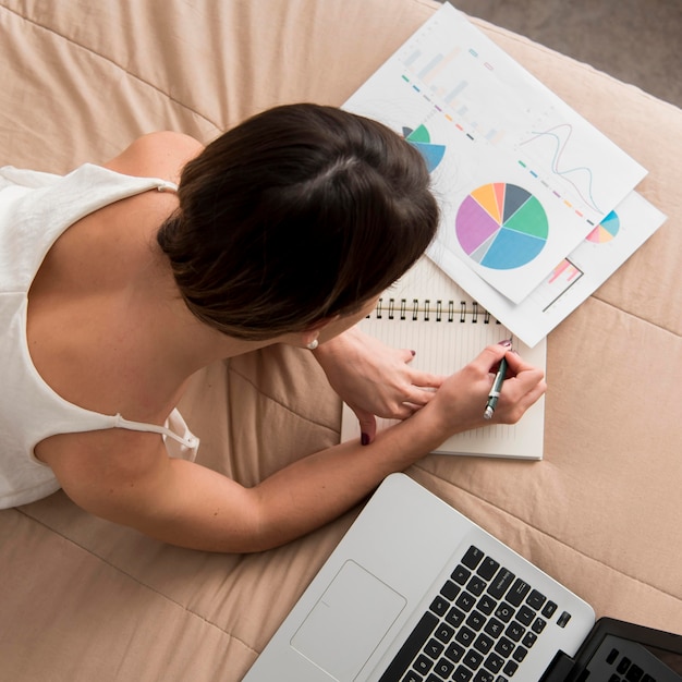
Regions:
<instances>
[{"instance_id":1,"label":"open spiral notebook with lined cream pages under the woman's hands","mask_svg":"<svg viewBox=\"0 0 682 682\"><path fill-rule=\"evenodd\" d=\"M360 328L393 348L416 352L412 365L448 375L473 360L490 343L509 339L511 332L471 300L429 258L423 257L393 287ZM546 368L547 343L534 348L514 340L514 350L527 362ZM485 404L480 405L483 413ZM390 419L378 419L386 428ZM343 405L342 440L360 438L353 411ZM435 452L541 460L545 437L545 400L541 398L514 425L490 425L458 434Z\"/></svg>"}]
</instances>

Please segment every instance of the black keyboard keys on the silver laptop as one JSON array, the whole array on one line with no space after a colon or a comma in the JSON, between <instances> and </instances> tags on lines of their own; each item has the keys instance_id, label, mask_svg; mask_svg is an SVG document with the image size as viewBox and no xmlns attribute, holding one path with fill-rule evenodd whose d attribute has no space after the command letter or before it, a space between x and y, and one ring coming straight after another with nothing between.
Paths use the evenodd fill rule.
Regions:
<instances>
[{"instance_id":1,"label":"black keyboard keys on the silver laptop","mask_svg":"<svg viewBox=\"0 0 682 682\"><path fill-rule=\"evenodd\" d=\"M557 608L472 545L380 682L511 680Z\"/></svg>"}]
</instances>

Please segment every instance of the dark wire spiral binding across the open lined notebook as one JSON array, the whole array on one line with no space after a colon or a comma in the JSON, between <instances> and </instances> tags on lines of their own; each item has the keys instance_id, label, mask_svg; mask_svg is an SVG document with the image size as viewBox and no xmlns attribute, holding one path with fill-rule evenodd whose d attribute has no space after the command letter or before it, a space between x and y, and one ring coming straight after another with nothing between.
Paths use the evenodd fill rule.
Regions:
<instances>
[{"instance_id":1,"label":"dark wire spiral binding across the open lined notebook","mask_svg":"<svg viewBox=\"0 0 682 682\"><path fill-rule=\"evenodd\" d=\"M467 307L466 301L440 301L437 300L431 304L429 299L419 301L413 299L409 302L406 299L383 299L377 301L377 307L374 315L367 316L370 319L400 319L412 321L436 321L436 322L470 322L473 325L499 325L499 320L495 319L488 310L479 306L475 301L471 302Z\"/></svg>"}]
</instances>

